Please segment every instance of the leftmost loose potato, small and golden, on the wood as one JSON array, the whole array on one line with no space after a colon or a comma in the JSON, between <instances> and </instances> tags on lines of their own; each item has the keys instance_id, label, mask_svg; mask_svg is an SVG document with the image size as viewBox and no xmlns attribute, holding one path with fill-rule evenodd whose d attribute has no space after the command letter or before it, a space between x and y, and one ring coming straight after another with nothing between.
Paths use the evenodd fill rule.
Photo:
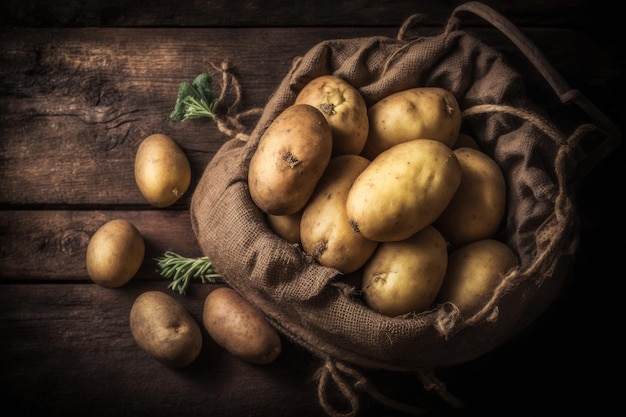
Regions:
<instances>
[{"instance_id":1,"label":"leftmost loose potato, small and golden, on the wood","mask_svg":"<svg viewBox=\"0 0 626 417\"><path fill-rule=\"evenodd\" d=\"M126 284L141 267L145 255L143 236L127 220L106 222L91 236L85 264L93 282L105 288Z\"/></svg>"}]
</instances>

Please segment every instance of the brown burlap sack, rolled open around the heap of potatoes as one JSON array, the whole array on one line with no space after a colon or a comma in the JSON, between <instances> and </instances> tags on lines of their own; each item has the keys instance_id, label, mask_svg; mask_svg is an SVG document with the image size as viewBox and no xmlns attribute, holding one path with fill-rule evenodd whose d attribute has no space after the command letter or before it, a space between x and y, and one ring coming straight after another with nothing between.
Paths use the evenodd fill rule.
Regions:
<instances>
[{"instance_id":1,"label":"brown burlap sack, rolled open around the heap of potatoes","mask_svg":"<svg viewBox=\"0 0 626 417\"><path fill-rule=\"evenodd\" d=\"M321 379L349 373L337 364L423 372L477 358L546 309L576 250L568 182L579 162L578 143L594 127L561 133L527 98L524 79L503 55L459 28L460 12L436 36L407 39L403 26L398 39L329 40L295 59L251 134L222 146L194 192L192 224L204 254L285 337L322 358ZM340 283L337 271L273 234L253 204L247 172L259 138L307 82L324 74L357 87L368 105L411 87L451 91L464 129L501 167L507 216L497 238L515 250L520 264L474 317L461 319L450 304L410 317L373 312Z\"/></svg>"}]
</instances>

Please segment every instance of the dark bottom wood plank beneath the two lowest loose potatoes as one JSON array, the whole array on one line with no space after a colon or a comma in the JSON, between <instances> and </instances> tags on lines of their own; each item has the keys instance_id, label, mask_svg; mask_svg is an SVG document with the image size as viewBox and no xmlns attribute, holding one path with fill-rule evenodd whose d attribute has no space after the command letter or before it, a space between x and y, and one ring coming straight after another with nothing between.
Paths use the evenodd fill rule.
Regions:
<instances>
[{"instance_id":1,"label":"dark bottom wood plank beneath the two lowest loose potatoes","mask_svg":"<svg viewBox=\"0 0 626 417\"><path fill-rule=\"evenodd\" d=\"M135 344L128 317L140 293L172 294L202 326L211 286L186 297L157 284L1 287L0 404L10 402L12 415L321 415L311 379L316 362L288 343L272 365L253 366L231 357L201 327L200 356L178 370Z\"/></svg>"}]
</instances>

